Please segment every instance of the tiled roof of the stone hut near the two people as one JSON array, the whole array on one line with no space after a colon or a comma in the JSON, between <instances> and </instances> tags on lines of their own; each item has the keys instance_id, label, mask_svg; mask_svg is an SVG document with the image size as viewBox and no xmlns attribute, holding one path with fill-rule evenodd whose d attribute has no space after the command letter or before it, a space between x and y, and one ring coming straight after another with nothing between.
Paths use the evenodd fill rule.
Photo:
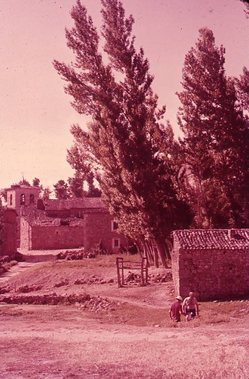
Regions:
<instances>
[{"instance_id":1,"label":"tiled roof of the stone hut near the two people","mask_svg":"<svg viewBox=\"0 0 249 379\"><path fill-rule=\"evenodd\" d=\"M227 229L174 230L174 248L195 249L249 249L249 229L232 229L234 237L228 236Z\"/></svg>"}]
</instances>

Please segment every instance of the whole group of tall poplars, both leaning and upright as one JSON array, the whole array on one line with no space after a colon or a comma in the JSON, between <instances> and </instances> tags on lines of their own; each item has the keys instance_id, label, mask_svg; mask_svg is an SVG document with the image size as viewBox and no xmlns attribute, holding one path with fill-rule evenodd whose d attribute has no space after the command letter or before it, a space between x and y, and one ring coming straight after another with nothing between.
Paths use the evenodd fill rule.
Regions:
<instances>
[{"instance_id":1,"label":"whole group of tall poplars, both leaning and upright","mask_svg":"<svg viewBox=\"0 0 249 379\"><path fill-rule=\"evenodd\" d=\"M170 232L179 228L249 226L249 71L225 74L225 50L211 30L186 55L174 140L158 108L153 76L143 49L135 48L134 19L119 0L101 0L102 37L80 0L66 29L75 63L54 61L65 92L88 131L71 127L75 143L67 160L81 175L91 173L119 229L139 251L166 266ZM121 78L118 80L117 78Z\"/></svg>"}]
</instances>

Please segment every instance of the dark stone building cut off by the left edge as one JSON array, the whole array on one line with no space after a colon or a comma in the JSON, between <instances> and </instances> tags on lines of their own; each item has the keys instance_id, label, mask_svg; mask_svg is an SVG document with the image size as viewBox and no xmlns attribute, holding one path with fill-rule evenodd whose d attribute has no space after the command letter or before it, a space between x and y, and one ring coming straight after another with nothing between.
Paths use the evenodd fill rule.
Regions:
<instances>
[{"instance_id":1,"label":"dark stone building cut off by the left edge","mask_svg":"<svg viewBox=\"0 0 249 379\"><path fill-rule=\"evenodd\" d=\"M2 217L3 236L0 244L0 256L11 256L17 251L17 223L16 211L6 209Z\"/></svg>"}]
</instances>

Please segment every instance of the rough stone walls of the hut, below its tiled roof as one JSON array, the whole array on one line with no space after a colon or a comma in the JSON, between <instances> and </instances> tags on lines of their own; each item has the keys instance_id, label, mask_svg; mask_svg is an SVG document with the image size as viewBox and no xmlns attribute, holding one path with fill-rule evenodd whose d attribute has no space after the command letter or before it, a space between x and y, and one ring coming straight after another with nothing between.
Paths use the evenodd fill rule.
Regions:
<instances>
[{"instance_id":1,"label":"rough stone walls of the hut, below its tiled roof","mask_svg":"<svg viewBox=\"0 0 249 379\"><path fill-rule=\"evenodd\" d=\"M249 294L249 250L173 250L175 291L198 300L222 299Z\"/></svg>"}]
</instances>

